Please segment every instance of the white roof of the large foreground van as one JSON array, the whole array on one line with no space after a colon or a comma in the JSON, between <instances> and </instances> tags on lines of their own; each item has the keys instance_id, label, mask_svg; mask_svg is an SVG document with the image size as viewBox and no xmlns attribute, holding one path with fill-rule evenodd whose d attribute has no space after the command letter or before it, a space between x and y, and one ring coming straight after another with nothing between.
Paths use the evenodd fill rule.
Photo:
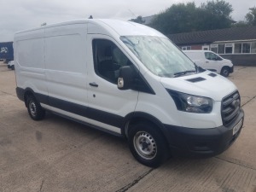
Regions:
<instances>
[{"instance_id":1,"label":"white roof of the large foreground van","mask_svg":"<svg viewBox=\"0 0 256 192\"><path fill-rule=\"evenodd\" d=\"M145 35L145 36L159 36L159 37L165 37L162 33L154 30L153 28L150 28L148 26L138 24L131 21L123 21L123 20L110 20L110 19L81 19L81 20L69 20L61 23L51 24L51 25L45 25L40 26L37 28L24 30L17 33L22 32L30 32L35 31L38 29L44 28L50 28L55 26L67 26L67 25L73 25L73 24L93 24L96 26L102 26L104 29L106 29L108 32L116 32L119 34L119 36L135 36L135 35Z\"/></svg>"}]
</instances>

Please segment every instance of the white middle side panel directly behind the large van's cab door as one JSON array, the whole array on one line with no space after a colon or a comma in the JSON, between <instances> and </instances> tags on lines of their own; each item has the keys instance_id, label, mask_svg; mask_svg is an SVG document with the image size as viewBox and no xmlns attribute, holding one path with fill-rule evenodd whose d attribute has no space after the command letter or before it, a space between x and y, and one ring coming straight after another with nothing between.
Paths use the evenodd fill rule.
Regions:
<instances>
[{"instance_id":1,"label":"white middle side panel directly behind the large van's cab door","mask_svg":"<svg viewBox=\"0 0 256 192\"><path fill-rule=\"evenodd\" d=\"M45 29L45 73L52 107L65 109L67 102L87 106L86 32L86 24Z\"/></svg>"}]
</instances>

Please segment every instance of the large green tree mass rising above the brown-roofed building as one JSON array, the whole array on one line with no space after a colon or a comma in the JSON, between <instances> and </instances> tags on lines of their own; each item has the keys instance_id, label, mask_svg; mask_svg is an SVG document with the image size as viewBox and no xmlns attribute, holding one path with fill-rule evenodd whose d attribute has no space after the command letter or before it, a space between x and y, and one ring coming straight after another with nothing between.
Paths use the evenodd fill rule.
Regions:
<instances>
[{"instance_id":1,"label":"large green tree mass rising above the brown-roofed building","mask_svg":"<svg viewBox=\"0 0 256 192\"><path fill-rule=\"evenodd\" d=\"M201 7L192 2L178 3L156 15L149 26L165 34L228 28L234 22L232 11L224 0L202 3Z\"/></svg>"}]
</instances>

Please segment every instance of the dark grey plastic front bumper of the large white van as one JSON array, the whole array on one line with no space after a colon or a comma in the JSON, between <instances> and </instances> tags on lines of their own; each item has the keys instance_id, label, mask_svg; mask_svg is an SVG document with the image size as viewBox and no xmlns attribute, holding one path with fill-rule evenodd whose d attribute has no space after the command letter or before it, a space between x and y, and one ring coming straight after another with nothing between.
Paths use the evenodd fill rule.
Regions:
<instances>
[{"instance_id":1,"label":"dark grey plastic front bumper of the large white van","mask_svg":"<svg viewBox=\"0 0 256 192\"><path fill-rule=\"evenodd\" d=\"M236 141L241 129L233 135L233 128L242 120L244 112L228 127L222 125L212 129L192 129L165 125L165 135L172 154L182 156L209 157L221 154Z\"/></svg>"}]
</instances>

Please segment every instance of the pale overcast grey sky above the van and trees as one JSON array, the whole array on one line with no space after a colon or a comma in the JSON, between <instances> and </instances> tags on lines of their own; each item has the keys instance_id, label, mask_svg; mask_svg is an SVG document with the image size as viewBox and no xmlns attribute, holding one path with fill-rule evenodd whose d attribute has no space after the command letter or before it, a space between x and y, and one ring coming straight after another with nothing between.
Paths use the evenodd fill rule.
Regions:
<instances>
[{"instance_id":1,"label":"pale overcast grey sky above the van and trees","mask_svg":"<svg viewBox=\"0 0 256 192\"><path fill-rule=\"evenodd\" d=\"M0 42L13 41L17 31L66 20L88 18L130 20L159 14L172 4L207 0L0 0ZM255 0L225 0L234 11L233 20L244 20Z\"/></svg>"}]
</instances>

